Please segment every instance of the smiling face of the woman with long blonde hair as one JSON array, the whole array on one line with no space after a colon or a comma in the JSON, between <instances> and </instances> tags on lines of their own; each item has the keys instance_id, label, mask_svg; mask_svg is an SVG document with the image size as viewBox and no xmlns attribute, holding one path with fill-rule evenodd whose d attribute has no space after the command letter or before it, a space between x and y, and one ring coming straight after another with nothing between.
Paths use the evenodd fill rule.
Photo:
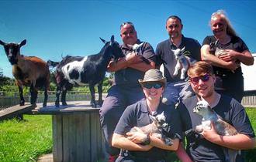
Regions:
<instances>
[{"instance_id":1,"label":"smiling face of the woman with long blonde hair","mask_svg":"<svg viewBox=\"0 0 256 162\"><path fill-rule=\"evenodd\" d=\"M215 15L211 19L211 29L217 39L227 35L227 22L221 15Z\"/></svg>"}]
</instances>

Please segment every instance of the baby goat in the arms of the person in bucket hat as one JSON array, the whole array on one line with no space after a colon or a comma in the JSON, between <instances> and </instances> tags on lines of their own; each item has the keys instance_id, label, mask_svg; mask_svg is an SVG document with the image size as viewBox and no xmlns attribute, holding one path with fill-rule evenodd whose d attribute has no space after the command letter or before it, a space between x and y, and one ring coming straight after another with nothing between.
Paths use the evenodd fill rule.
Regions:
<instances>
[{"instance_id":1,"label":"baby goat in the arms of the person in bucket hat","mask_svg":"<svg viewBox=\"0 0 256 162\"><path fill-rule=\"evenodd\" d=\"M150 119L153 121L152 123L144 126L144 127L138 127L140 130L142 130L145 134L151 133L152 136L157 137L164 141L165 144L171 146L173 144L173 141L171 138L166 137L163 134L163 130L167 129L168 123L165 123L165 116L164 112L161 114L158 114L157 116L150 116ZM137 132L136 127L133 127L130 132Z\"/></svg>"}]
</instances>

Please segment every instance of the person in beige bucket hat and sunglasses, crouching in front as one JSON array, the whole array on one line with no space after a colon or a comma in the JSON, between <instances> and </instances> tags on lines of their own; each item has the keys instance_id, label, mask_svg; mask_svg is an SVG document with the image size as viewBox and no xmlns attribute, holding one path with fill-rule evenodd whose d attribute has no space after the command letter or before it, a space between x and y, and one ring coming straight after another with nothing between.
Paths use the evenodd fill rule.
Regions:
<instances>
[{"instance_id":1,"label":"person in beige bucket hat and sunglasses, crouching in front","mask_svg":"<svg viewBox=\"0 0 256 162\"><path fill-rule=\"evenodd\" d=\"M181 123L178 112L174 106L167 106L161 103L161 95L164 92L166 79L158 69L150 69L145 73L144 79L139 79L145 99L138 101L126 108L116 125L112 137L112 146L121 150L116 161L122 162L164 162L168 150L177 150L179 136L173 134L181 133ZM165 133L173 139L171 146L166 145L161 139L143 133L140 128L152 121L150 116L157 116L164 112L165 122L171 129ZM137 132L130 132L137 127Z\"/></svg>"}]
</instances>

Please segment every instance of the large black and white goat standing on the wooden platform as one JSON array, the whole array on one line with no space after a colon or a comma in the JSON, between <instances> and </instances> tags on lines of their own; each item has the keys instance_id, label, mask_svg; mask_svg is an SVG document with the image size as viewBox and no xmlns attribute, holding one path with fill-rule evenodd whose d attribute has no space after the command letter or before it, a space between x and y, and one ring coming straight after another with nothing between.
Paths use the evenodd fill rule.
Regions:
<instances>
[{"instance_id":1,"label":"large black and white goat standing on the wooden platform","mask_svg":"<svg viewBox=\"0 0 256 162\"><path fill-rule=\"evenodd\" d=\"M57 66L55 77L57 81L57 99L55 106L60 106L60 94L62 105L66 103L67 90L71 89L73 85L85 86L89 84L91 92L91 105L96 107L95 103L95 89L94 86L98 85L99 92L99 105L102 105L102 83L106 74L106 69L109 61L114 57L118 59L124 57L122 50L119 47L119 43L114 40L112 35L110 42L106 42L105 46L101 49L98 54L91 56L66 56L61 62L53 62L48 60L49 66Z\"/></svg>"}]
</instances>

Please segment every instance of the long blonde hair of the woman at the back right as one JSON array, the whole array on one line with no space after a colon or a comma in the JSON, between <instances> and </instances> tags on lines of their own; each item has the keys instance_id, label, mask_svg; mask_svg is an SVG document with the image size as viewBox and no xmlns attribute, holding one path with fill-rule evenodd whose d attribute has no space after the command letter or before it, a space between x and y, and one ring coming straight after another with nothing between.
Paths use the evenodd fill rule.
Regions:
<instances>
[{"instance_id":1,"label":"long blonde hair of the woman at the back right","mask_svg":"<svg viewBox=\"0 0 256 162\"><path fill-rule=\"evenodd\" d=\"M227 34L230 36L237 36L237 33L235 32L234 28L232 27L230 20L227 18L226 12L224 12L224 10L222 10L222 9L220 9L216 12L213 12L213 14L211 16L211 20L213 18L216 18L217 16L220 16L220 18L223 19L227 23ZM211 22L209 22L209 24L211 24Z\"/></svg>"}]
</instances>

